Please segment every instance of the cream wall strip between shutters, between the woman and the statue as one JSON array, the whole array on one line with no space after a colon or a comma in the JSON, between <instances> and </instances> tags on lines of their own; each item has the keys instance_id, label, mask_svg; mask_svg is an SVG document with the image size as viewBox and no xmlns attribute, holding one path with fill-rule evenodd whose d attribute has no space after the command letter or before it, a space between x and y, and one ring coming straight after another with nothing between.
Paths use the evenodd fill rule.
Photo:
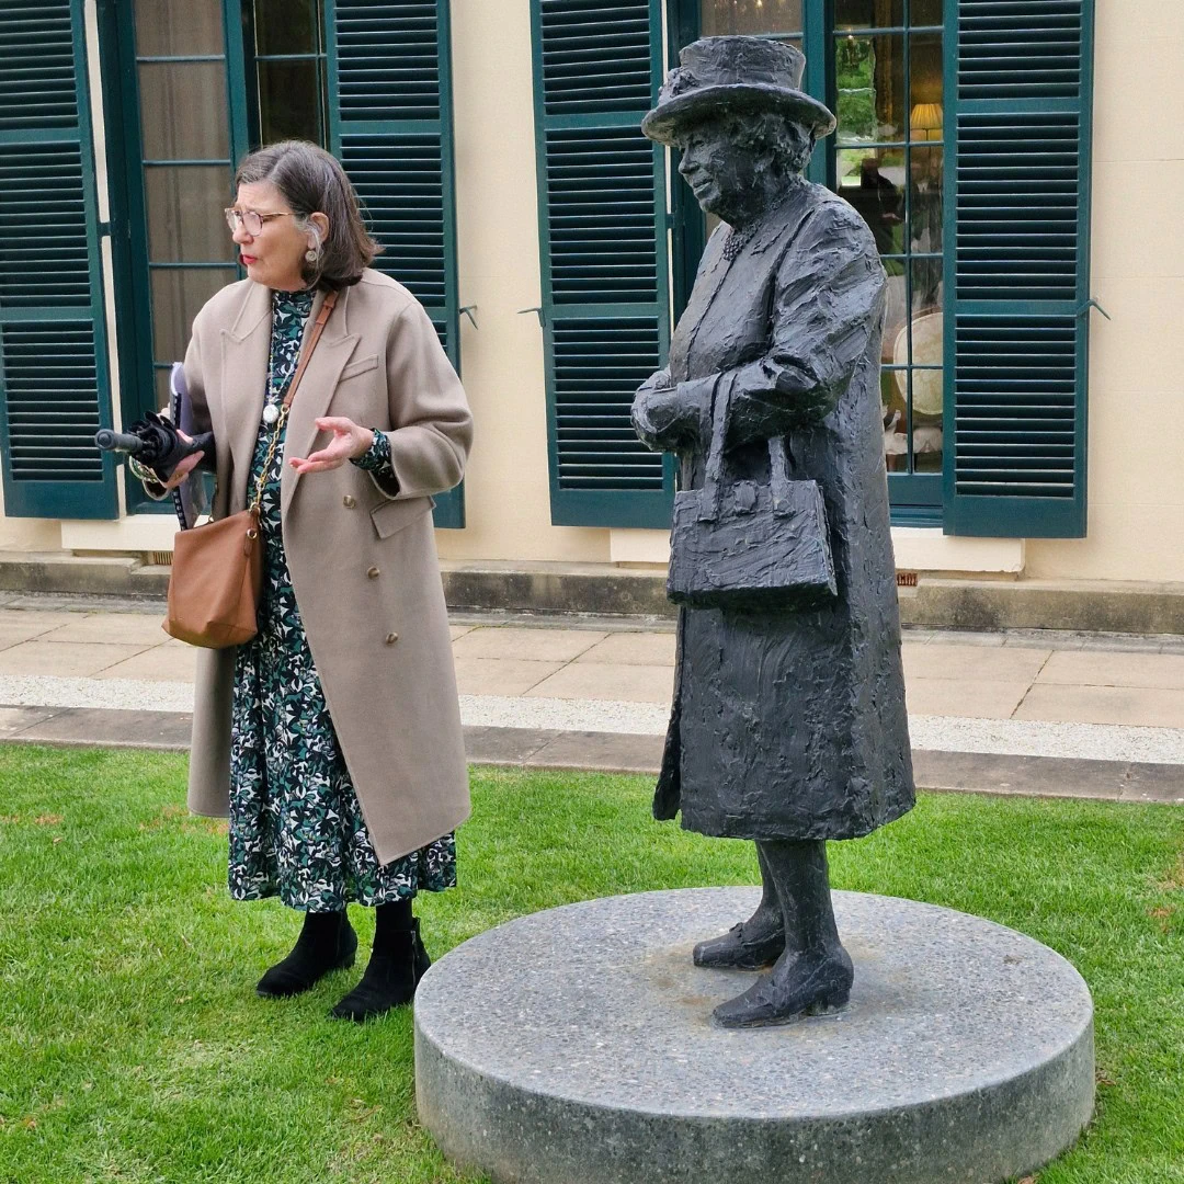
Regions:
<instances>
[{"instance_id":1,"label":"cream wall strip between shutters, between the woman and the statue","mask_svg":"<svg viewBox=\"0 0 1184 1184\"><path fill-rule=\"evenodd\" d=\"M476 443L464 530L446 559L607 562L609 532L551 525L539 303L530 12L526 0L452 0L461 365Z\"/></svg>"}]
</instances>

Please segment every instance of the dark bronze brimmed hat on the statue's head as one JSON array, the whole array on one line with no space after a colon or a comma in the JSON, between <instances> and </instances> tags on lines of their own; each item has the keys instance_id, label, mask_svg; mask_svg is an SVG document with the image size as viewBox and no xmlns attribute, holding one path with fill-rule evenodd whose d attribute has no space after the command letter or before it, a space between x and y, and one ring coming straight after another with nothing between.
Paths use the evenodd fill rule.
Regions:
<instances>
[{"instance_id":1,"label":"dark bronze brimmed hat on the statue's head","mask_svg":"<svg viewBox=\"0 0 1184 1184\"><path fill-rule=\"evenodd\" d=\"M701 38L678 54L642 131L670 144L680 128L712 115L776 111L821 140L835 130L835 116L802 90L805 64L800 50L764 37Z\"/></svg>"}]
</instances>

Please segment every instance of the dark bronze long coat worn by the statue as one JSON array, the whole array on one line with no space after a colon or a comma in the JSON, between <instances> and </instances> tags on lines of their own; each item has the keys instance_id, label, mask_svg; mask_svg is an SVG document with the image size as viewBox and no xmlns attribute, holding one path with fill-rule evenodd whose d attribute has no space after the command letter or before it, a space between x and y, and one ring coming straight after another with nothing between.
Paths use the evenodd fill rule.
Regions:
<instances>
[{"instance_id":1,"label":"dark bronze long coat worn by the statue","mask_svg":"<svg viewBox=\"0 0 1184 1184\"><path fill-rule=\"evenodd\" d=\"M680 451L683 488L701 488L713 413L726 414L725 497L767 482L767 440L789 433L792 476L823 490L838 596L805 612L681 610L654 812L681 809L704 835L852 838L914 800L880 403L884 274L858 214L805 181L753 231L739 252L725 250L729 227L712 236L668 371L638 391L633 422L651 448Z\"/></svg>"}]
</instances>

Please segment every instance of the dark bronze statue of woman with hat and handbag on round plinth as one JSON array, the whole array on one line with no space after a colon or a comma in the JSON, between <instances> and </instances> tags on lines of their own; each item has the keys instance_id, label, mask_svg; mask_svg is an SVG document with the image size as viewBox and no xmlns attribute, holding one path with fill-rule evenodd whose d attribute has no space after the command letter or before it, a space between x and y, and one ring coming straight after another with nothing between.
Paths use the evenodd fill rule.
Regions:
<instances>
[{"instance_id":1,"label":"dark bronze statue of woman with hat and handbag on round plinth","mask_svg":"<svg viewBox=\"0 0 1184 1184\"><path fill-rule=\"evenodd\" d=\"M831 112L805 59L751 37L682 51L642 128L719 215L633 424L680 457L681 601L657 818L757 843L764 897L700 966L761 970L729 1028L842 1008L854 978L826 839L913 805L880 401L884 274L856 211L802 170Z\"/></svg>"}]
</instances>

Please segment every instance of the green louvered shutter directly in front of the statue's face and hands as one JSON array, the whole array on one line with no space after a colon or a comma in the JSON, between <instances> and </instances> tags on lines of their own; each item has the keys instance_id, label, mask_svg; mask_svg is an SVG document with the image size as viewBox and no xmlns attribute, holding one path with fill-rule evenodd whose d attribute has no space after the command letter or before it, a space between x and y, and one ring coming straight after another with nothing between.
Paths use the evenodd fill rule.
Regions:
<instances>
[{"instance_id":1,"label":"green louvered shutter directly in front of the statue's face and hands","mask_svg":"<svg viewBox=\"0 0 1184 1184\"><path fill-rule=\"evenodd\" d=\"M532 0L551 516L669 527L673 469L633 433L669 343L665 163L641 130L659 0Z\"/></svg>"}]
</instances>

